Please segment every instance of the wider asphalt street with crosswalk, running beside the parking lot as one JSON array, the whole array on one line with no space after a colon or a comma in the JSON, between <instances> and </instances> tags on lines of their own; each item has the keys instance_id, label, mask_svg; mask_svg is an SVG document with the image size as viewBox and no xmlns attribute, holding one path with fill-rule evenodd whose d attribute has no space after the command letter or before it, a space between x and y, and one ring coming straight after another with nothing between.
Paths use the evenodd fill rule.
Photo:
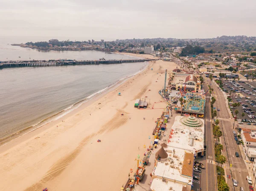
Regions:
<instances>
[{"instance_id":1,"label":"wider asphalt street with crosswalk, running beside the parking lot","mask_svg":"<svg viewBox=\"0 0 256 191\"><path fill-rule=\"evenodd\" d=\"M208 80L207 80L208 81ZM208 81L209 83L209 81ZM240 187L244 188L244 191L249 191L249 184L247 183L246 177L248 175L246 165L244 160L242 159L241 151L239 149L239 145L236 144L234 139L233 123L234 120L230 119L230 115L228 113L227 104L225 103L227 100L225 99L223 92L221 92L217 86L212 83L212 88L214 89L213 97L216 98L216 106L220 108L218 111L218 119L220 120L220 127L223 131L224 136L221 137L221 143L224 146L224 156L227 159L225 163L225 168L227 171L227 175L231 175L232 179L228 179L228 184L230 185L230 190L239 191ZM236 157L235 152L238 152L240 157ZM232 164L232 167L230 167ZM235 179L238 183L237 187L233 187L232 180Z\"/></svg>"}]
</instances>

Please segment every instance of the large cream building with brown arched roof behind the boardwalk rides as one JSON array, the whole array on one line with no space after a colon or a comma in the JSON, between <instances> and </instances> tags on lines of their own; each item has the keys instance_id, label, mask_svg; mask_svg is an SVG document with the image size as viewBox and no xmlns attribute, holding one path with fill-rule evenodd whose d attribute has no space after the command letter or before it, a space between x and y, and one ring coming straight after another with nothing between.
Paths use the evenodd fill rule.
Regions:
<instances>
[{"instance_id":1,"label":"large cream building with brown arched roof behind the boardwalk rides","mask_svg":"<svg viewBox=\"0 0 256 191\"><path fill-rule=\"evenodd\" d=\"M201 82L197 76L193 74L176 73L171 83L171 89L184 90L185 86L186 91L198 92L198 90L201 90Z\"/></svg>"}]
</instances>

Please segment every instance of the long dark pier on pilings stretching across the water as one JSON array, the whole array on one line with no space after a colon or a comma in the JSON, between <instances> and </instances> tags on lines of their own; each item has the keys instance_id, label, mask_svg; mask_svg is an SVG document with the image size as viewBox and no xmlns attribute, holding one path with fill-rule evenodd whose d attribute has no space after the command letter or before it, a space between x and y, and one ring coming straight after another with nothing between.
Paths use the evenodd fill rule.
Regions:
<instances>
[{"instance_id":1,"label":"long dark pier on pilings stretching across the water","mask_svg":"<svg viewBox=\"0 0 256 191\"><path fill-rule=\"evenodd\" d=\"M0 68L12 67L44 67L44 66L70 66L70 65L99 65L99 64L119 64L137 63L150 61L152 59L137 60L19 60L19 61L0 61Z\"/></svg>"}]
</instances>

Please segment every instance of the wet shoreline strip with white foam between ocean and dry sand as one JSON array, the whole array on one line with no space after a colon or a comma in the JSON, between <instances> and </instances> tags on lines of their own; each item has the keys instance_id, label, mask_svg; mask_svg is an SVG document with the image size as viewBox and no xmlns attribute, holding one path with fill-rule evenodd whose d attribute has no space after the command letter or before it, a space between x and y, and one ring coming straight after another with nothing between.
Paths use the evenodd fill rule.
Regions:
<instances>
[{"instance_id":1,"label":"wet shoreline strip with white foam between ocean and dry sand","mask_svg":"<svg viewBox=\"0 0 256 191\"><path fill-rule=\"evenodd\" d=\"M77 103L73 103L72 105L68 106L67 108L65 108L61 111L58 111L58 113L55 113L55 114L45 118L44 120L41 120L40 122L38 122L35 125L29 126L29 127L24 127L22 130L19 130L19 131L13 133L13 134L9 134L6 137L0 138L0 148L3 145L11 143L12 141L14 141L14 140L26 135L26 134L29 134L32 131L36 131L38 128L41 128L44 125L47 125L48 123L51 123L51 122L56 121L58 119L61 119L65 115L69 114L72 111L75 111L80 106L86 104L87 102L90 102L91 100L96 101L97 100L96 97L98 97L98 96L100 96L101 94L104 94L104 93L106 94L109 91L117 88L118 86L122 85L122 83L125 83L126 80L129 80L131 77L135 76L136 74L139 74L139 73L143 72L148 66L149 66L149 63L146 63L145 66L143 66L143 68L140 68L140 70L135 72L134 74L123 77L123 78L117 80L116 82L113 82L109 86L107 86L107 87L105 87L105 88L103 88L103 89L101 89L101 90L83 98L82 100L80 100ZM46 123L44 123L44 122L46 122Z\"/></svg>"}]
</instances>

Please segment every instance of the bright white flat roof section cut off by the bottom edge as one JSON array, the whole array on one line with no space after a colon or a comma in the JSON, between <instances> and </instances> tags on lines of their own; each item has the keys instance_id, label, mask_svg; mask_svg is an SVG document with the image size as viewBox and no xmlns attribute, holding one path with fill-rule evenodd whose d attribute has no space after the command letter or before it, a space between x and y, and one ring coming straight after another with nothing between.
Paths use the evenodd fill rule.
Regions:
<instances>
[{"instance_id":1,"label":"bright white flat roof section cut off by the bottom edge","mask_svg":"<svg viewBox=\"0 0 256 191\"><path fill-rule=\"evenodd\" d=\"M172 191L182 191L183 184L171 181L163 182L162 179L154 178L150 186L152 191L168 191L170 187L172 187Z\"/></svg>"}]
</instances>

